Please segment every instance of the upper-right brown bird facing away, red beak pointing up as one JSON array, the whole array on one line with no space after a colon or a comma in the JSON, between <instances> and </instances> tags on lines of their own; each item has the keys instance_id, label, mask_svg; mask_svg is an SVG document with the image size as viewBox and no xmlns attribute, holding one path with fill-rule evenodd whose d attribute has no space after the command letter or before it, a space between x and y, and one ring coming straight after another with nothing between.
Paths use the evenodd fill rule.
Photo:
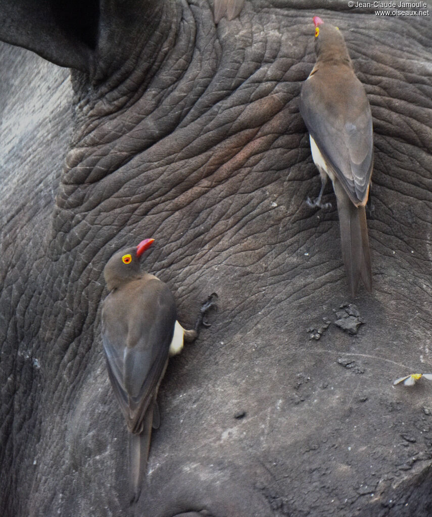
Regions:
<instances>
[{"instance_id":1,"label":"upper-right brown bird facing away, red beak pointing up","mask_svg":"<svg viewBox=\"0 0 432 517\"><path fill-rule=\"evenodd\" d=\"M351 294L372 290L366 211L374 162L371 107L337 27L314 17L316 63L303 83L300 113L309 131L321 196L330 177L336 194L342 257Z\"/></svg>"}]
</instances>

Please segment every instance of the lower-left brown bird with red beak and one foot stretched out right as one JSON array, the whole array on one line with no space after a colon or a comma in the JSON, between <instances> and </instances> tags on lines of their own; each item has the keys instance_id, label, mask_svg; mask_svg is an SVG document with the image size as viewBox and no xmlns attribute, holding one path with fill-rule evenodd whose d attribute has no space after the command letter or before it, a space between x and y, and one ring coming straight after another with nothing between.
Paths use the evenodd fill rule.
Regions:
<instances>
[{"instance_id":1,"label":"lower-left brown bird with red beak and one foot stretched out right","mask_svg":"<svg viewBox=\"0 0 432 517\"><path fill-rule=\"evenodd\" d=\"M140 495L147 470L151 429L159 427L156 402L170 355L178 354L183 339L193 341L207 310L215 307L211 295L193 330L177 321L174 297L157 277L140 271L140 257L154 239L118 251L103 274L109 295L103 302L102 343L115 397L130 435L133 499Z\"/></svg>"}]
</instances>

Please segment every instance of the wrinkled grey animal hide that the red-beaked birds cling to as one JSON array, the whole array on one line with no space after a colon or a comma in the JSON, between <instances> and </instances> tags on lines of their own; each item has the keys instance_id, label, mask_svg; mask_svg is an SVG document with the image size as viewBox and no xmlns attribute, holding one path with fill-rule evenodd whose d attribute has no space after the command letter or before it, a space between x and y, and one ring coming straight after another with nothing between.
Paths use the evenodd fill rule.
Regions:
<instances>
[{"instance_id":1,"label":"wrinkled grey animal hide that the red-beaked birds cling to","mask_svg":"<svg viewBox=\"0 0 432 517\"><path fill-rule=\"evenodd\" d=\"M57 63L64 52L91 66L70 81L1 48L1 515L432 511L432 384L391 382L432 371L430 16L310 4L253 0L215 26L205 1L165 2L150 34L142 3L145 35L114 12L97 50L70 59L79 44L60 29L8 26L8 41L16 31ZM343 31L374 117L374 291L356 300L331 188L331 210L304 202L319 190L298 113L315 14ZM219 312L169 363L148 486L130 507L102 269L145 237L145 268L172 288L180 321L212 291ZM332 324L310 340L345 301L365 321L358 335Z\"/></svg>"}]
</instances>

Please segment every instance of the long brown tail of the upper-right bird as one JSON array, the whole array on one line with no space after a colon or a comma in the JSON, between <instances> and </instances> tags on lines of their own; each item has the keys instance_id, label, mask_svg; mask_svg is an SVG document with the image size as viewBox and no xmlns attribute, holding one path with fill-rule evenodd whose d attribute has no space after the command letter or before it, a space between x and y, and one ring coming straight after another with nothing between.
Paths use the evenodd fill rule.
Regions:
<instances>
[{"instance_id":1,"label":"long brown tail of the upper-right bird","mask_svg":"<svg viewBox=\"0 0 432 517\"><path fill-rule=\"evenodd\" d=\"M364 206L355 206L337 181L333 184L341 227L342 258L352 296L356 296L360 279L372 291L371 251L367 236Z\"/></svg>"}]
</instances>

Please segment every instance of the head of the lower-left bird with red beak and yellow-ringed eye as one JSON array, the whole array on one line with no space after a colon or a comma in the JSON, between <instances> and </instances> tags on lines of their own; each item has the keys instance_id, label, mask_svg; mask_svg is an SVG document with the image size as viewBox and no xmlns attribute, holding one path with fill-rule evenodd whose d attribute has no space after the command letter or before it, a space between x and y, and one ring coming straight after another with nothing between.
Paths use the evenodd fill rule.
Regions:
<instances>
[{"instance_id":1,"label":"head of the lower-left bird with red beak and yellow-ringed eye","mask_svg":"<svg viewBox=\"0 0 432 517\"><path fill-rule=\"evenodd\" d=\"M103 269L109 291L140 275L140 257L154 241L155 239L144 239L138 246L114 253Z\"/></svg>"}]
</instances>

